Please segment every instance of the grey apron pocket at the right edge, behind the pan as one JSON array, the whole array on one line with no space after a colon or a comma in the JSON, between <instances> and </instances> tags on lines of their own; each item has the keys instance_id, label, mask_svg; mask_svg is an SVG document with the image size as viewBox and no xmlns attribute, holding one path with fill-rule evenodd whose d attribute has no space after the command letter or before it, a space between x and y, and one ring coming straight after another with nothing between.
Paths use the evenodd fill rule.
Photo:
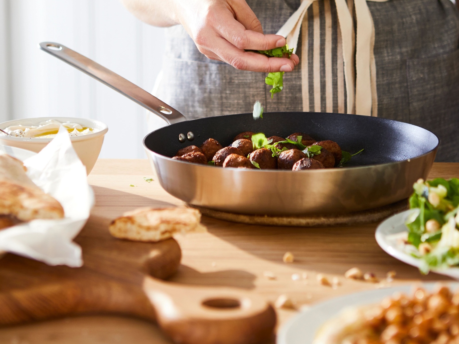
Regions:
<instances>
[{"instance_id":1,"label":"grey apron pocket at the right edge, behind the pan","mask_svg":"<svg viewBox=\"0 0 459 344\"><path fill-rule=\"evenodd\" d=\"M408 60L409 122L440 139L436 161L459 161L459 50Z\"/></svg>"}]
</instances>

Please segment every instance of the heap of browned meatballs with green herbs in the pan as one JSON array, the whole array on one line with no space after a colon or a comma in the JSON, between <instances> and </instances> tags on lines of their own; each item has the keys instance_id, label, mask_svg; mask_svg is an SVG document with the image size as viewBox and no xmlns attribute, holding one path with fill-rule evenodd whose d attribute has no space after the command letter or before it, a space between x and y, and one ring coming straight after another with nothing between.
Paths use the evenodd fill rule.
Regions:
<instances>
[{"instance_id":1,"label":"heap of browned meatballs with green herbs in the pan","mask_svg":"<svg viewBox=\"0 0 459 344\"><path fill-rule=\"evenodd\" d=\"M341 167L353 155L341 150L335 141L317 141L306 133L293 133L283 139L280 136L267 138L264 133L243 132L229 147L223 147L211 138L201 147L182 148L172 159L219 167L301 171Z\"/></svg>"}]
</instances>

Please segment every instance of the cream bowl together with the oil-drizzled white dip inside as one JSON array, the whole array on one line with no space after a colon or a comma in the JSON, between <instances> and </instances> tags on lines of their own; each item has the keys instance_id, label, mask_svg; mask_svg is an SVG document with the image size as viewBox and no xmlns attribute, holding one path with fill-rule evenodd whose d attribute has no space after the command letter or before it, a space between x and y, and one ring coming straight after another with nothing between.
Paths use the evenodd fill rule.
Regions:
<instances>
[{"instance_id":1,"label":"cream bowl together with the oil-drizzled white dip inside","mask_svg":"<svg viewBox=\"0 0 459 344\"><path fill-rule=\"evenodd\" d=\"M12 133L13 135L29 136L30 134L38 134L40 136L9 136L0 132L0 144L31 150L38 153L53 139L54 135L52 132L54 132L53 130L56 128L55 124L57 122L64 123L64 126L67 127L67 130L69 130L73 149L77 152L78 157L83 162L84 166L86 166L86 172L89 174L95 165L95 161L97 161L99 153L101 152L104 135L108 131L107 125L103 122L75 117L38 117L17 119L0 123L0 129L16 129L14 130L15 133ZM50 126L49 124L54 125ZM23 130L23 127L35 128L29 128L27 130L27 132L30 131L29 133L21 133L22 131L25 131ZM47 128L52 130L47 131ZM75 128L77 128L76 131L74 130ZM87 130L87 128L89 130ZM81 133L76 133L80 131ZM45 135L42 136L43 134Z\"/></svg>"}]
</instances>

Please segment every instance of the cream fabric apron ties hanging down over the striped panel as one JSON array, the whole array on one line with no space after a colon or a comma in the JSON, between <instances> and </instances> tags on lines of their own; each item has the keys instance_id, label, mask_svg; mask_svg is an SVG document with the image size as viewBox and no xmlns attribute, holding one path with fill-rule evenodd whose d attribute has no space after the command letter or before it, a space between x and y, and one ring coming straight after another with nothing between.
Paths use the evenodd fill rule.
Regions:
<instances>
[{"instance_id":1,"label":"cream fabric apron ties hanging down over the striped panel","mask_svg":"<svg viewBox=\"0 0 459 344\"><path fill-rule=\"evenodd\" d=\"M303 0L300 7L280 28L277 34L286 37L287 44L295 52L304 16L309 6L318 0ZM376 90L376 64L374 55L375 27L367 6L367 1L386 2L388 0L353 0L357 22L357 37L354 39L352 6L346 0L335 0L339 28L342 39L342 57L344 61L344 78L346 80L347 113L365 116L377 116L378 97ZM349 1L352 5L352 0ZM307 55L308 44L303 36L302 55ZM355 85L354 85L355 54ZM304 67L303 67L304 68ZM307 73L307 70L305 71ZM304 71L303 71L304 75ZM302 80L303 89L308 81ZM304 92L303 92L304 97ZM309 108L303 110L309 111Z\"/></svg>"}]
</instances>

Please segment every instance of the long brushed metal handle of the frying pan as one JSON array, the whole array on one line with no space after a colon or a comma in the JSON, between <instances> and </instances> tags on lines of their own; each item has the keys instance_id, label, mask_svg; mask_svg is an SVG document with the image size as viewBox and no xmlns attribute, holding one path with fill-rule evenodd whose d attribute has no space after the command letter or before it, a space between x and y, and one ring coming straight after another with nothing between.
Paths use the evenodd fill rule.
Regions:
<instances>
[{"instance_id":1,"label":"long brushed metal handle of the frying pan","mask_svg":"<svg viewBox=\"0 0 459 344\"><path fill-rule=\"evenodd\" d=\"M65 45L54 42L42 42L39 45L41 50L67 62L69 65L90 75L101 83L105 83L108 87L134 100L137 104L145 107L169 124L186 121L185 116L179 111L157 99L146 90L141 89L139 86L134 85L134 83L90 60L86 56L67 48Z\"/></svg>"}]
</instances>

